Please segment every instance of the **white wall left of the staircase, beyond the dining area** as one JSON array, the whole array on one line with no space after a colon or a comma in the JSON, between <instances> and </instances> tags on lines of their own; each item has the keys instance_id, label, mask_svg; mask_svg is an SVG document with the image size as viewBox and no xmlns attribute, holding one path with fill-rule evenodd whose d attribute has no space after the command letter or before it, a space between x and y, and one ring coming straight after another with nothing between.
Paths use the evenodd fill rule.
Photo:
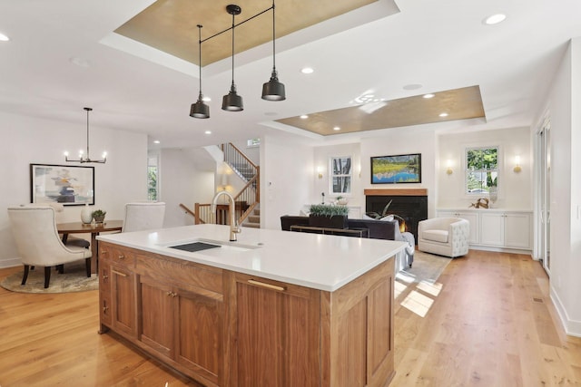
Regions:
<instances>
[{"instance_id":1,"label":"white wall left of the staircase, beyond the dining area","mask_svg":"<svg viewBox=\"0 0 581 387\"><path fill-rule=\"evenodd\" d=\"M187 226L194 223L180 203L194 209L194 204L211 203L214 192L214 173L196 168L195 157L187 150L160 152L160 195L165 202L164 227Z\"/></svg>"}]
</instances>

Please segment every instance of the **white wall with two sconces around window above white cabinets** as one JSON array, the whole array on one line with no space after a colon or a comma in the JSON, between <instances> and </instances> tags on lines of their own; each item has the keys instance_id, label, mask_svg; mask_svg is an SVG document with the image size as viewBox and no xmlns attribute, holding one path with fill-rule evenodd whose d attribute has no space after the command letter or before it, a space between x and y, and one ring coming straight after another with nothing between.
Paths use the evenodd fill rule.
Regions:
<instances>
[{"instance_id":1,"label":"white wall with two sconces around window above white cabinets","mask_svg":"<svg viewBox=\"0 0 581 387\"><path fill-rule=\"evenodd\" d=\"M435 160L438 208L468 208L477 198L465 193L465 153L467 148L499 147L498 201L495 208L533 208L533 162L529 128L497 131L470 131L438 135ZM519 173L514 172L515 157L520 156ZM447 160L452 174L446 173Z\"/></svg>"}]
</instances>

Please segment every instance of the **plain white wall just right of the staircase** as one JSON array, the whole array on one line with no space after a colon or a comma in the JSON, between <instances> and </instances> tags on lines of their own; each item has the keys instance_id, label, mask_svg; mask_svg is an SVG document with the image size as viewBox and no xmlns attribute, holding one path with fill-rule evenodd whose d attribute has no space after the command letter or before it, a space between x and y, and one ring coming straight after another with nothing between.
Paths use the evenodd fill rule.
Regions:
<instances>
[{"instance_id":1,"label":"plain white wall just right of the staircase","mask_svg":"<svg viewBox=\"0 0 581 387\"><path fill-rule=\"evenodd\" d=\"M298 215L310 203L312 147L287 137L261 139L261 227L281 229L282 215Z\"/></svg>"}]
</instances>

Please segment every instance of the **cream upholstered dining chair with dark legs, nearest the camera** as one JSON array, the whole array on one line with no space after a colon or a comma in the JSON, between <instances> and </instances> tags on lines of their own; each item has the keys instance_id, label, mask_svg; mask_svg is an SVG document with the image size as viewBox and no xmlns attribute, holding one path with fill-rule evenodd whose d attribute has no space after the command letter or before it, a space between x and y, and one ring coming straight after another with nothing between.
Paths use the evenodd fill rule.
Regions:
<instances>
[{"instance_id":1,"label":"cream upholstered dining chair with dark legs, nearest the camera","mask_svg":"<svg viewBox=\"0 0 581 387\"><path fill-rule=\"evenodd\" d=\"M80 259L85 260L86 274L91 276L91 250L63 244L56 230L54 208L10 207L8 218L18 254L25 265L22 285L26 284L30 266L44 266L44 288L47 288L51 279L51 266L61 266Z\"/></svg>"}]
</instances>

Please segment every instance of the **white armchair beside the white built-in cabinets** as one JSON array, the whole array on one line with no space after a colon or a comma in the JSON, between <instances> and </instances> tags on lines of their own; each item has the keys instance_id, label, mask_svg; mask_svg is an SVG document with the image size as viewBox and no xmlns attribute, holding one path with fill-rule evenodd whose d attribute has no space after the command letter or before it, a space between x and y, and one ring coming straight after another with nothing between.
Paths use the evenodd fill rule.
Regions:
<instances>
[{"instance_id":1,"label":"white armchair beside the white built-in cabinets","mask_svg":"<svg viewBox=\"0 0 581 387\"><path fill-rule=\"evenodd\" d=\"M468 254L470 223L462 218L431 218L418 223L418 249L439 256Z\"/></svg>"}]
</instances>

